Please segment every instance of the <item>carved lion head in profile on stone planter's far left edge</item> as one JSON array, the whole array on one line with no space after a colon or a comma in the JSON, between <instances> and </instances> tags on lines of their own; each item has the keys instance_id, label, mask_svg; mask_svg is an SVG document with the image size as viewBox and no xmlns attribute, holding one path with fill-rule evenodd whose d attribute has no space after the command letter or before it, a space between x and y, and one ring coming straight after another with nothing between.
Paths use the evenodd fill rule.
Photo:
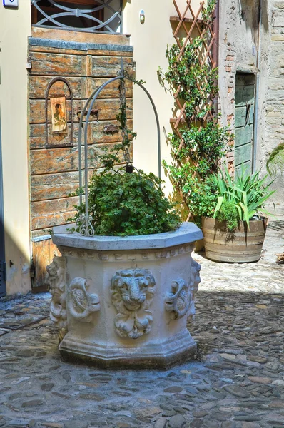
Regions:
<instances>
[{"instance_id":1,"label":"carved lion head in profile on stone planter's far left edge","mask_svg":"<svg viewBox=\"0 0 284 428\"><path fill-rule=\"evenodd\" d=\"M50 317L64 336L67 332L65 258L54 257L52 263L46 266L46 271L46 283L52 295Z\"/></svg>"}]
</instances>

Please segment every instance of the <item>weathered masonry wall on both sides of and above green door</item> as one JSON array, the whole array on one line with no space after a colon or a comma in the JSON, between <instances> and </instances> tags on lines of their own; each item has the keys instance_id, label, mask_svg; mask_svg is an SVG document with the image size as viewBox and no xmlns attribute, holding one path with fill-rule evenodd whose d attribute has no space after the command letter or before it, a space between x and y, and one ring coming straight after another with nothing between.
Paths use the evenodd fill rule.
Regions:
<instances>
[{"instance_id":1,"label":"weathered masonry wall on both sides of and above green door","mask_svg":"<svg viewBox=\"0 0 284 428\"><path fill-rule=\"evenodd\" d=\"M261 8L261 13L260 13ZM258 20L260 18L260 26ZM220 0L219 109L223 125L235 131L235 75L255 73L254 167L267 173L268 153L283 142L284 131L284 1ZM258 58L259 55L259 58ZM234 151L228 153L233 171ZM278 174L275 188L283 187ZM283 200L283 192L274 195Z\"/></svg>"}]
</instances>

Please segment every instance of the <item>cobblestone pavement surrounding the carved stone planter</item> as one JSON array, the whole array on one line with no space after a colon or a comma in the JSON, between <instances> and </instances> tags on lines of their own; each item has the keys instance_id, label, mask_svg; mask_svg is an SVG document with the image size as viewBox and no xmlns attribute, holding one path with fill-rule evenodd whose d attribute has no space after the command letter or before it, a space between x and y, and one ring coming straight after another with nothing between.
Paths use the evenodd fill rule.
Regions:
<instances>
[{"instance_id":1,"label":"cobblestone pavement surrounding the carved stone planter","mask_svg":"<svg viewBox=\"0 0 284 428\"><path fill-rule=\"evenodd\" d=\"M282 225L270 222L259 263L195 255L198 352L168 371L62 362L49 293L0 300L0 427L284 427Z\"/></svg>"}]
</instances>

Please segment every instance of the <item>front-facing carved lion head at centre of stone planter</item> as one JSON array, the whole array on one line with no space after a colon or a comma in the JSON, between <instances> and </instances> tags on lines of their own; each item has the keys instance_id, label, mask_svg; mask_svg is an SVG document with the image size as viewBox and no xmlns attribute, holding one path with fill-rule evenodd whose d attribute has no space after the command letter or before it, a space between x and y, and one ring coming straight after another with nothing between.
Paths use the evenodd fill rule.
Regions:
<instances>
[{"instance_id":1,"label":"front-facing carved lion head at centre of stone planter","mask_svg":"<svg viewBox=\"0 0 284 428\"><path fill-rule=\"evenodd\" d=\"M111 280L111 300L118 314L114 325L120 337L137 339L151 331L153 314L149 309L156 282L150 270L120 270Z\"/></svg>"}]
</instances>

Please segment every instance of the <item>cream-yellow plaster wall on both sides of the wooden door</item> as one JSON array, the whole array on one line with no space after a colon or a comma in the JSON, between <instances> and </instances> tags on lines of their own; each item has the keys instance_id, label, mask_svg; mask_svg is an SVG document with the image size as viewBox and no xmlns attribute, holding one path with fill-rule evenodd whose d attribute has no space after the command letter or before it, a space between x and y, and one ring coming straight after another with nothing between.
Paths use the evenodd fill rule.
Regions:
<instances>
[{"instance_id":1,"label":"cream-yellow plaster wall on both sides of the wooden door","mask_svg":"<svg viewBox=\"0 0 284 428\"><path fill-rule=\"evenodd\" d=\"M181 10L186 0L177 0ZM195 0L193 9L200 5ZM31 4L19 0L19 9L5 9L0 4L0 102L1 136L4 173L5 250L7 294L30 290L29 260L29 168L27 158L27 43L31 36ZM139 11L146 13L145 24L139 22ZM171 162L166 133L171 131L173 96L158 82L158 66L165 69L167 44L173 44L173 27L169 17L176 15L172 0L125 0L123 33L131 34L136 78L146 81L146 88L156 103L161 126L161 158ZM189 15L188 15L189 16ZM141 89L134 88L133 129L137 168L158 173L156 121L151 104ZM164 173L163 173L163 178ZM171 191L167 183L166 192ZM11 260L11 265L10 265Z\"/></svg>"}]
</instances>

